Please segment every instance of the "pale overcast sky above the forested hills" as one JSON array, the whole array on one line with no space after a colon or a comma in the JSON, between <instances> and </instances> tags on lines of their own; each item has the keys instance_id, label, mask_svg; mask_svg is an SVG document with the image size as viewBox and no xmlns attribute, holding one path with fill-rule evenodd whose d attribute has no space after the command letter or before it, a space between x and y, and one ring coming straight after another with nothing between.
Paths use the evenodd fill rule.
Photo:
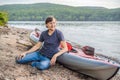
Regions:
<instances>
[{"instance_id":1,"label":"pale overcast sky above the forested hills","mask_svg":"<svg viewBox=\"0 0 120 80\"><path fill-rule=\"evenodd\" d=\"M97 6L105 8L120 8L120 0L0 0L0 5L55 3L69 6Z\"/></svg>"}]
</instances>

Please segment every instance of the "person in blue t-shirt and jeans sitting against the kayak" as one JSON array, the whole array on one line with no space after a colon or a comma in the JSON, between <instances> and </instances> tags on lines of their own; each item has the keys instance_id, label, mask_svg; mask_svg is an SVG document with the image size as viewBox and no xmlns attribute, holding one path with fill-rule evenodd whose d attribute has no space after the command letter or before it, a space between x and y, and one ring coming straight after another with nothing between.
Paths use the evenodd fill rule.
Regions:
<instances>
[{"instance_id":1,"label":"person in blue t-shirt and jeans sitting against the kayak","mask_svg":"<svg viewBox=\"0 0 120 80\"><path fill-rule=\"evenodd\" d=\"M41 33L39 42L35 46L17 57L17 63L31 62L32 67L45 70L55 65L57 57L68 51L62 32L56 29L56 19L50 16L45 24L48 30ZM59 49L59 45L62 45L62 49ZM41 46L42 48L38 50Z\"/></svg>"}]
</instances>

